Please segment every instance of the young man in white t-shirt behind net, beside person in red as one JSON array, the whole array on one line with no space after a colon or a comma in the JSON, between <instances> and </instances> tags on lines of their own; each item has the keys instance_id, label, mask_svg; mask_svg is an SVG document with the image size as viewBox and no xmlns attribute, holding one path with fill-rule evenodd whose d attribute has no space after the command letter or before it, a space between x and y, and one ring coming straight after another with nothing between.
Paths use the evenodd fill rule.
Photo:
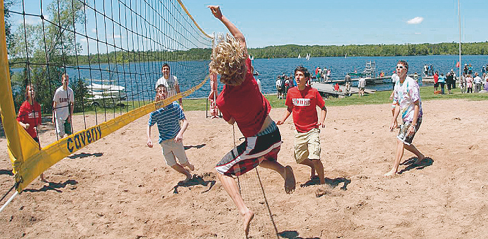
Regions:
<instances>
[{"instance_id":1,"label":"young man in white t-shirt behind net, beside person in red","mask_svg":"<svg viewBox=\"0 0 488 239\"><path fill-rule=\"evenodd\" d=\"M71 135L71 115L75 109L75 94L73 89L68 86L68 74L62 74L61 81L62 85L54 92L52 119L60 138L65 134Z\"/></svg>"}]
</instances>

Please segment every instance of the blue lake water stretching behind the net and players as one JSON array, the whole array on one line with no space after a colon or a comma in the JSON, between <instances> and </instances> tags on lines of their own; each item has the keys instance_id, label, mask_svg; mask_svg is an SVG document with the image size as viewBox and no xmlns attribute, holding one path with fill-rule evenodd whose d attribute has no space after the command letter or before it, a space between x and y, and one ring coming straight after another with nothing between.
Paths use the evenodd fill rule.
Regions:
<instances>
[{"instance_id":1,"label":"blue lake water stretching behind the net and players","mask_svg":"<svg viewBox=\"0 0 488 239\"><path fill-rule=\"evenodd\" d=\"M331 79L344 79L347 72L362 72L367 61L375 61L376 74L383 71L386 76L390 76L395 70L398 60L403 59L408 62L408 74L417 72L419 76L422 75L424 64L432 64L434 70L438 70L439 74L454 69L456 74L459 74L456 68L456 62L459 60L457 55L434 55L434 56L408 56L408 57L311 57L310 60L305 58L281 58L281 59L254 59L254 69L259 72L258 78L261 81L263 93L276 92L276 77L280 74L292 75L293 70L297 66L304 66L310 72L315 74L315 68L331 69ZM175 74L180 81L180 88L183 91L190 89L208 74L209 61L180 61L178 63L171 63L171 73ZM486 55L463 55L461 66L465 63L472 64L474 72L480 72L483 65L488 64L488 56ZM127 90L128 100L135 99L149 99L154 98L154 84L157 79L161 77L160 62L145 62L136 64L119 65L117 68L114 64L100 64L95 66L80 66L80 68L67 69L71 79L103 79L105 84L112 83L115 85L124 86ZM91 68L91 69L90 69ZM14 72L20 70L14 69ZM110 73L112 72L112 73ZM124 73L124 72L132 72ZM87 81L89 83L89 81ZM93 83L100 83L93 81ZM219 83L219 91L223 87ZM391 89L391 84L368 85L371 89ZM203 87L188 96L188 98L201 98L208 96L210 91L210 83L206 83Z\"/></svg>"}]
</instances>

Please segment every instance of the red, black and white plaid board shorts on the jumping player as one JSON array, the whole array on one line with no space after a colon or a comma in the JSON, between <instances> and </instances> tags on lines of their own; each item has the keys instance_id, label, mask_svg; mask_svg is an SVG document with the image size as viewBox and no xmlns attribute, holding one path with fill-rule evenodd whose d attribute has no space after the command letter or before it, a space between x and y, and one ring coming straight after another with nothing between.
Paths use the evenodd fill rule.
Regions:
<instances>
[{"instance_id":1,"label":"red, black and white plaid board shorts on the jumping player","mask_svg":"<svg viewBox=\"0 0 488 239\"><path fill-rule=\"evenodd\" d=\"M230 150L217 163L217 172L232 177L243 175L257 167L263 160L276 161L281 147L281 135L275 122L253 137Z\"/></svg>"}]
</instances>

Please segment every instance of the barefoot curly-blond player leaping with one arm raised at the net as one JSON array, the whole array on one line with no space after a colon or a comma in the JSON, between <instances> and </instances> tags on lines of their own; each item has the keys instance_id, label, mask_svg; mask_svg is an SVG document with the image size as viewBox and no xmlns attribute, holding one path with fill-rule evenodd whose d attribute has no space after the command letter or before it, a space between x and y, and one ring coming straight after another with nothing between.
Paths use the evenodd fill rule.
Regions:
<instances>
[{"instance_id":1,"label":"barefoot curly-blond player leaping with one arm raised at the net","mask_svg":"<svg viewBox=\"0 0 488 239\"><path fill-rule=\"evenodd\" d=\"M290 166L278 163L281 147L281 135L278 126L269 117L271 105L258 90L252 76L253 67L247 57L244 35L237 27L222 15L217 5L208 6L213 16L227 27L232 36L219 36L217 46L212 50L210 69L221 74L220 81L225 83L217 98L223 119L229 124L237 123L245 141L234 147L217 163L217 178L243 216L245 235L249 234L249 223L254 212L245 205L239 187L233 176L243 175L258 165L280 173L284 179L284 191L293 193L295 176Z\"/></svg>"}]
</instances>

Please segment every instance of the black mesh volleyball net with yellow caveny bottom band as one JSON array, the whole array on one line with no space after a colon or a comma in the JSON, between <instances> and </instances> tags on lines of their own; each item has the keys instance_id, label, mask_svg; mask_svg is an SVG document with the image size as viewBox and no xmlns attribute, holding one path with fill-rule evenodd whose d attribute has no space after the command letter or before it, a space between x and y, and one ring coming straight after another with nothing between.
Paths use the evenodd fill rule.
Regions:
<instances>
[{"instance_id":1,"label":"black mesh volleyball net with yellow caveny bottom band","mask_svg":"<svg viewBox=\"0 0 488 239\"><path fill-rule=\"evenodd\" d=\"M0 11L0 107L17 192L135 119L207 92L200 87L208 78L213 38L180 0L0 0L1 7L3 1L10 4ZM163 64L170 69L165 84L175 94L155 102ZM72 120L73 133L54 140L36 128L38 143L16 120L25 88L34 87L40 114L52 117L62 74L74 94L66 107L73 105L73 117L83 120Z\"/></svg>"}]
</instances>

